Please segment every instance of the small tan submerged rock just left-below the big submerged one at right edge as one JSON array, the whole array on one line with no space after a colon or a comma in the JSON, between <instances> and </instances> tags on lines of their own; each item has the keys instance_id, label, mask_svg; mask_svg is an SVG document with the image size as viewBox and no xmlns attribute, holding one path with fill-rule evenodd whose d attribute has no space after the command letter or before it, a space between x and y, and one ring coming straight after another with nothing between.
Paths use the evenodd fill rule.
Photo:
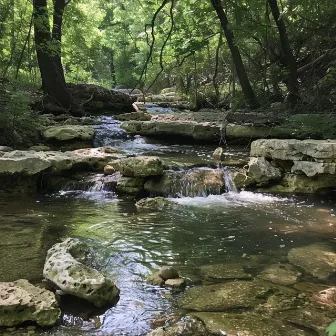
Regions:
<instances>
[{"instance_id":1,"label":"small tan submerged rock just left-below the big submerged one at right edge","mask_svg":"<svg viewBox=\"0 0 336 336\"><path fill-rule=\"evenodd\" d=\"M290 264L274 264L268 266L258 275L258 277L263 280L284 286L295 284L300 276L301 273Z\"/></svg>"}]
</instances>

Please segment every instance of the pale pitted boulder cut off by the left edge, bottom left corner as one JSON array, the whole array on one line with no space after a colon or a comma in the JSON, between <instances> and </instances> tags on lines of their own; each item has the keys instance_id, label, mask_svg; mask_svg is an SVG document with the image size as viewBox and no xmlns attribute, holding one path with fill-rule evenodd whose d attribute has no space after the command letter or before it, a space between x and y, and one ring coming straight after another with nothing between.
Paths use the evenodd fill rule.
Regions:
<instances>
[{"instance_id":1,"label":"pale pitted boulder cut off by the left edge, bottom left corner","mask_svg":"<svg viewBox=\"0 0 336 336\"><path fill-rule=\"evenodd\" d=\"M55 294L27 280L0 282L0 326L17 326L34 321L54 325L61 315Z\"/></svg>"}]
</instances>

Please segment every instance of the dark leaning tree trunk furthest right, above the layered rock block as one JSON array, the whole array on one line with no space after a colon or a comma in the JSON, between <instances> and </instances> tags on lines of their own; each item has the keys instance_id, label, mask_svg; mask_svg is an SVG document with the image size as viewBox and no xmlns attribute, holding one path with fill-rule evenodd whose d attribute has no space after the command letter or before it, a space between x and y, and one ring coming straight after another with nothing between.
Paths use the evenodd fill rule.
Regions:
<instances>
[{"instance_id":1,"label":"dark leaning tree trunk furthest right, above the layered rock block","mask_svg":"<svg viewBox=\"0 0 336 336\"><path fill-rule=\"evenodd\" d=\"M280 35L281 49L284 55L285 65L288 70L288 100L293 107L296 105L299 98L296 61L289 44L286 25L280 15L277 0L268 0L268 3Z\"/></svg>"}]
</instances>

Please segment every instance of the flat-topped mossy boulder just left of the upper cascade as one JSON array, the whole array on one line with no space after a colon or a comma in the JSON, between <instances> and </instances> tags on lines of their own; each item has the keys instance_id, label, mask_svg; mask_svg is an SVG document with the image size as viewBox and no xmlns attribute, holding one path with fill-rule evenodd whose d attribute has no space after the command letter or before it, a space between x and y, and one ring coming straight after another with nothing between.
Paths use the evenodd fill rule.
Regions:
<instances>
[{"instance_id":1,"label":"flat-topped mossy boulder just left of the upper cascade","mask_svg":"<svg viewBox=\"0 0 336 336\"><path fill-rule=\"evenodd\" d=\"M92 126L64 125L49 127L42 133L46 140L92 140L95 130Z\"/></svg>"}]
</instances>

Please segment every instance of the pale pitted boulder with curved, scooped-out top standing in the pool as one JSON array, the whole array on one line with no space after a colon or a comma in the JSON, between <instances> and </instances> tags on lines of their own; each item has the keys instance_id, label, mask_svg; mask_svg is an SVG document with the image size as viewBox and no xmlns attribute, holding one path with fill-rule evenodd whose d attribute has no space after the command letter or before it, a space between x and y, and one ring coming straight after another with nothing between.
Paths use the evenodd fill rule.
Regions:
<instances>
[{"instance_id":1,"label":"pale pitted boulder with curved, scooped-out top standing in the pool","mask_svg":"<svg viewBox=\"0 0 336 336\"><path fill-rule=\"evenodd\" d=\"M43 275L66 294L97 307L113 305L119 289L111 278L86 265L88 252L86 244L72 238L55 244L48 251Z\"/></svg>"}]
</instances>

